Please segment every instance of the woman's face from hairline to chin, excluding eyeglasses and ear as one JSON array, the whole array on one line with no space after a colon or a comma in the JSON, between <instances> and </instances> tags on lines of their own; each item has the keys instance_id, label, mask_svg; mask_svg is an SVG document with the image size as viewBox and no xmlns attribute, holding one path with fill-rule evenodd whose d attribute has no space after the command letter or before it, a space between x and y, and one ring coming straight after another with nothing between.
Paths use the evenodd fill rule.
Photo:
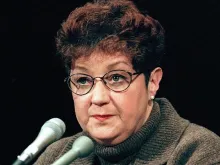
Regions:
<instances>
[{"instance_id":1,"label":"woman's face from hairline to chin, excluding eyeglasses and ear","mask_svg":"<svg viewBox=\"0 0 220 165\"><path fill-rule=\"evenodd\" d=\"M93 53L90 57L77 59L71 74L102 77L111 70L135 72L130 60L124 55ZM101 144L115 145L139 130L147 120L152 108L149 96L144 74L140 74L123 92L114 92L103 81L96 79L88 94L78 96L73 93L73 100L82 129Z\"/></svg>"}]
</instances>

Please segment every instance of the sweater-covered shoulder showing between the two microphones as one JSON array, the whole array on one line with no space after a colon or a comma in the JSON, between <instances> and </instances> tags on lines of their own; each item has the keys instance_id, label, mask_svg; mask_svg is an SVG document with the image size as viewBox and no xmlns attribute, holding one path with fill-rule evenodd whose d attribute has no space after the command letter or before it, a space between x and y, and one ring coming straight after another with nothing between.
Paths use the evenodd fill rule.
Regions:
<instances>
[{"instance_id":1,"label":"sweater-covered shoulder showing between the two microphones","mask_svg":"<svg viewBox=\"0 0 220 165\"><path fill-rule=\"evenodd\" d=\"M62 138L51 145L39 156L34 165L52 164L57 158L72 148L72 144L82 133Z\"/></svg>"}]
</instances>

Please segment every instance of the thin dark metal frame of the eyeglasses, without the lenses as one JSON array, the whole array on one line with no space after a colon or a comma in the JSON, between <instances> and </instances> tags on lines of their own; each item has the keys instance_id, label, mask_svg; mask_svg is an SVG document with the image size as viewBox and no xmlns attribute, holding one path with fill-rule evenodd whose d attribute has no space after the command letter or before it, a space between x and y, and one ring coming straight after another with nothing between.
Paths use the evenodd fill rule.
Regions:
<instances>
[{"instance_id":1,"label":"thin dark metal frame of the eyeglasses, without the lenses","mask_svg":"<svg viewBox=\"0 0 220 165\"><path fill-rule=\"evenodd\" d=\"M120 90L120 91L116 91L116 90L113 90L113 89L111 89L109 86L106 85L107 83L106 83L105 80L104 80L105 75L109 74L110 72L114 72L114 71L124 71L124 72L128 73L128 75L130 76L130 82L129 82L128 86L127 86L125 89ZM132 83L140 74L142 74L142 73L143 73L143 72L131 73L131 72L128 72L128 71L126 71L126 70L111 70L111 71L105 73L105 74L104 74L103 76L101 76L101 77L92 77L92 76L90 76L90 75L88 75L88 74L85 74L85 73L74 73L74 74L71 74L70 76L66 77L66 78L64 79L64 82L67 83L68 88L72 91L72 88L70 87L71 76L80 74L80 75L85 75L85 76L90 77L91 80L92 80L92 85L91 85L91 88L88 90L88 92L86 92L86 93L84 93L84 94L77 94L77 93L75 93L75 92L72 91L74 94L76 94L76 95L78 95L78 96L83 96L83 95L88 94L88 93L92 90L92 88L93 88L93 86L94 86L94 84L95 84L95 79L97 79L97 78L99 78L99 79L105 84L105 86L106 86L109 90L112 90L112 91L114 91L114 92L123 92L123 91L125 91L126 89L128 89L128 87L131 85L131 83ZM132 76L133 76L133 75L137 75L137 76L132 79ZM71 82L72 82L72 81L71 81ZM75 85L73 82L72 82L72 84ZM75 86L76 86L76 85L75 85Z\"/></svg>"}]
</instances>

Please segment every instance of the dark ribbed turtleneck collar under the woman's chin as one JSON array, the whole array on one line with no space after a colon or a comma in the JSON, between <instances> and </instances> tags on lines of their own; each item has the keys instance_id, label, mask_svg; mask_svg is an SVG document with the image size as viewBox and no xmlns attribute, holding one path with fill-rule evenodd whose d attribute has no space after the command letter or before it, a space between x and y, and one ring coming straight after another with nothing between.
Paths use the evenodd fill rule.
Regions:
<instances>
[{"instance_id":1,"label":"dark ribbed turtleneck collar under the woman's chin","mask_svg":"<svg viewBox=\"0 0 220 165\"><path fill-rule=\"evenodd\" d=\"M94 153L99 157L102 164L105 162L116 163L120 161L120 164L127 164L131 161L132 157L140 150L143 143L155 130L160 119L159 105L154 102L152 112L141 127L139 131L131 135L124 142L115 146L104 146L95 142ZM123 163L121 162L123 161Z\"/></svg>"}]
</instances>

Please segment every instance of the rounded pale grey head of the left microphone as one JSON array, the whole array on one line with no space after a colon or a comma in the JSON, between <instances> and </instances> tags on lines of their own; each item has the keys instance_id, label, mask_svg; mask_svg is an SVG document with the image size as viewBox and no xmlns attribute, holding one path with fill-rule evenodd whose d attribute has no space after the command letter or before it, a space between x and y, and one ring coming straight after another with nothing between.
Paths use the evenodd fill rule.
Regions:
<instances>
[{"instance_id":1,"label":"rounded pale grey head of the left microphone","mask_svg":"<svg viewBox=\"0 0 220 165\"><path fill-rule=\"evenodd\" d=\"M54 130L56 140L60 139L66 131L65 123L59 118L52 118L48 120L41 127L41 130L43 130L44 128L51 128L52 130Z\"/></svg>"}]
</instances>

